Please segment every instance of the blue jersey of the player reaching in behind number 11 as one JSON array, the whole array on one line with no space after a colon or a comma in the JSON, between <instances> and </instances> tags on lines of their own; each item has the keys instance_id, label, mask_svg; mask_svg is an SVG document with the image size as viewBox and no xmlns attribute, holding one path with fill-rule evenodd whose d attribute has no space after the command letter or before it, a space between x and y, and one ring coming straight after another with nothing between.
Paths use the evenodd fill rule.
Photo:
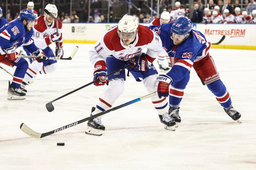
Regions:
<instances>
[{"instance_id":1,"label":"blue jersey of the player reaching in behind number 11","mask_svg":"<svg viewBox=\"0 0 256 170\"><path fill-rule=\"evenodd\" d=\"M174 45L171 39L171 27L173 23L163 24L162 26L150 26L161 38L163 48L171 57L178 57L179 60L167 73L172 78L172 82L180 81L189 74L189 70L194 62L200 61L209 55L211 42L208 42L203 33L191 30L188 38L179 45Z\"/></svg>"}]
</instances>

